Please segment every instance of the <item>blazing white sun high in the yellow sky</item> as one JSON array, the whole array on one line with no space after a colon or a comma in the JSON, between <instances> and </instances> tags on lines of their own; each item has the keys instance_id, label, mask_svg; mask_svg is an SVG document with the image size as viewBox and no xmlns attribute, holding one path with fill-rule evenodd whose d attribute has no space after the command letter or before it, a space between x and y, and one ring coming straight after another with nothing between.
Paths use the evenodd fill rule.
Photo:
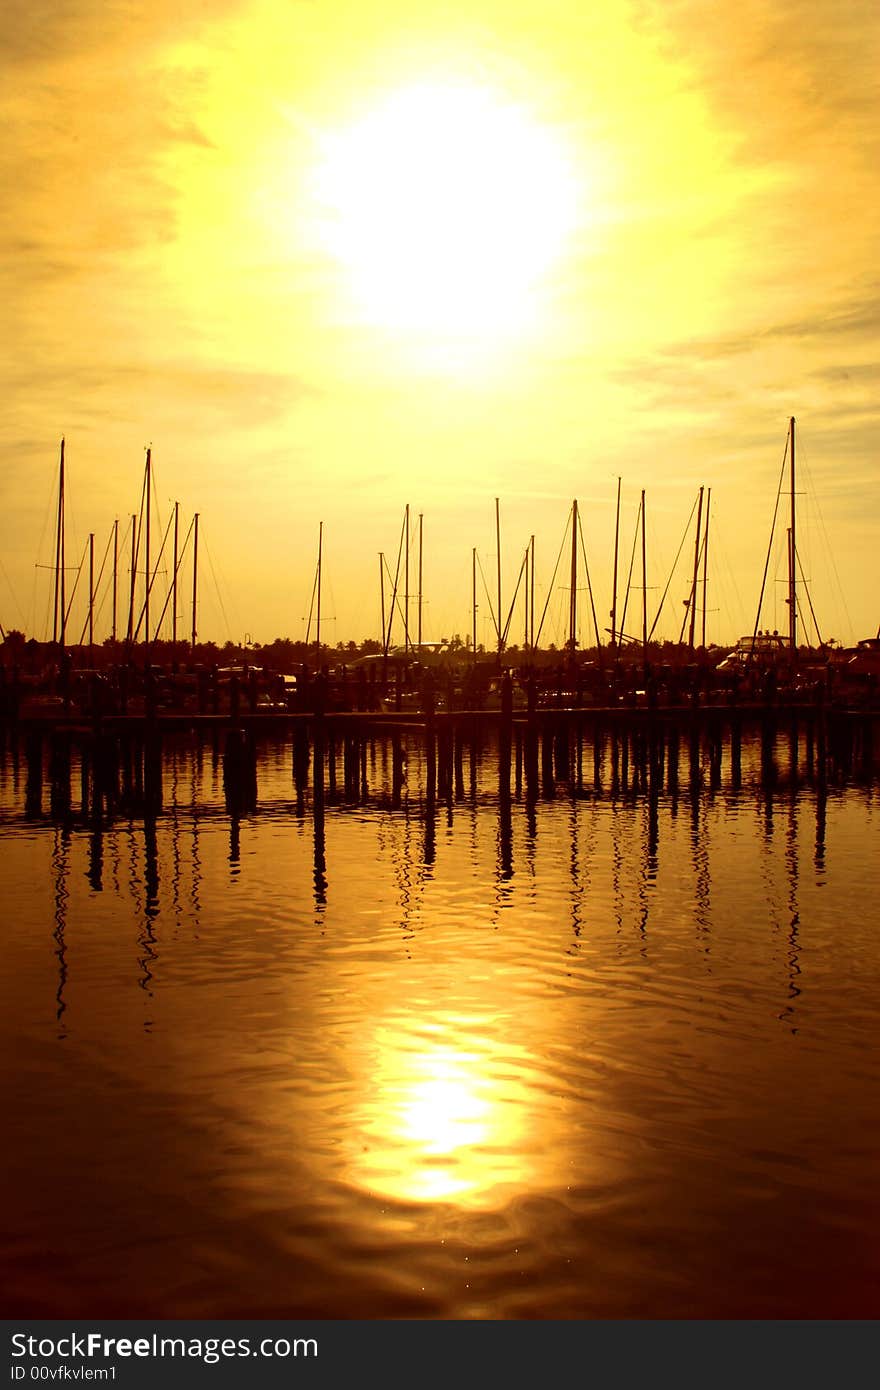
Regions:
<instances>
[{"instance_id":1,"label":"blazing white sun high in the yellow sky","mask_svg":"<svg viewBox=\"0 0 880 1390\"><path fill-rule=\"evenodd\" d=\"M420 82L328 135L323 240L361 317L421 338L517 335L569 239L563 140L489 89Z\"/></svg>"}]
</instances>

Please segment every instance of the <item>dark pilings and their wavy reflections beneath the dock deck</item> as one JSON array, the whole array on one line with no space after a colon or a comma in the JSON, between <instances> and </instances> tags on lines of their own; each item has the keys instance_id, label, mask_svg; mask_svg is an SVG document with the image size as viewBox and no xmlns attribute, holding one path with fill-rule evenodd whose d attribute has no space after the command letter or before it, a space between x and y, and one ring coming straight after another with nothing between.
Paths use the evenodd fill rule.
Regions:
<instances>
[{"instance_id":1,"label":"dark pilings and their wavy reflections beneath the dock deck","mask_svg":"<svg viewBox=\"0 0 880 1390\"><path fill-rule=\"evenodd\" d=\"M784 739L787 751L785 769L780 770L779 749ZM275 745L272 745L275 746ZM824 869L826 824L829 778L816 762L815 745L806 764L801 758L804 745L797 728L780 735L774 721L765 720L759 738L747 744L745 773L742 731L731 731L727 745L720 737L710 734L705 742L691 737L688 744L687 796L691 816L692 870L695 881L695 919L698 930L703 931L710 917L709 910L709 838L706 830L706 806L709 798L738 798L744 792L753 796L763 808L765 837L770 840L780 805L788 808L794 828L788 830L788 855L792 863L792 880L797 878L797 817L798 792L809 791L815 808L815 852L816 870ZM516 752L516 762L514 762ZM464 758L467 753L468 777L464 780ZM11 751L7 755L11 760ZM545 730L545 737L530 737L517 733L516 748L503 735L500 741L485 733L471 739L456 734L428 739L416 733L393 733L389 738L364 739L359 745L352 738L335 739L317 734L314 742L298 737L292 745L293 799L278 794L277 776L284 767L284 745L277 745L271 788L260 795L260 759L264 756L250 735L235 733L227 742L225 753L214 742L211 751L210 784L206 784L203 745L199 741L177 742L163 749L158 741L145 741L120 749L107 746L95 752L76 751L68 735L53 739L47 749L38 749L33 741L25 746L28 767L24 817L31 821L46 821L64 826L68 831L88 827L88 881L95 892L103 890L104 835L125 813L139 817L143 835L143 919L147 924L160 910L160 852L158 838L170 834L172 869L172 901L175 915L182 909L181 841L192 840L190 865L193 881L189 887L189 905L199 906L199 834L204 817L215 820L221 806L211 799L222 777L222 806L228 821L228 863L232 878L242 874L242 824L254 817L277 817L286 810L311 826L313 835L313 895L316 909L327 905L329 873L327 851L327 816L345 813L346 809L374 808L392 816L403 815L409 826L418 823L420 852L416 856L423 870L432 870L438 855L438 815L443 809L446 831L452 831L457 813L463 806L495 805L496 809L496 883L509 884L517 866L514 844L520 826L523 827L524 856L528 873L534 876L535 847L539 837L541 806L555 802L560 795L571 802L570 833L573 863L577 858L577 808L584 805L606 805L610 808L641 806L644 812L645 838L639 858L639 883L637 899L641 924L646 920L649 891L658 881L660 863L660 806L666 806L673 817L678 813L681 792L678 776L678 742L674 734L659 741L653 738L619 738L617 734L599 733L584 751L580 731L553 728ZM539 776L539 766L544 773ZM339 777L339 762L343 776ZM44 767L46 763L46 767ZM184 798L181 767L189 769L189 796ZM222 764L222 769L221 769ZM845 767L852 767L852 759L838 764L837 785L844 784L841 776ZM861 784L870 784L873 766L858 763ZM589 769L589 784L584 771ZM812 771L810 771L812 769ZM44 806L42 788L44 770L49 774L50 798ZM726 783L724 783L726 773ZM71 781L79 781L79 805L71 798ZM4 784L18 791L17 778ZM209 794L206 796L206 792ZM14 798L6 815L14 815ZM185 817L185 819L184 819ZM132 821L136 824L138 821ZM185 827L185 828L184 828ZM133 831L132 831L133 833ZM621 863L621 848L613 844L614 862ZM406 835L405 858L413 858L412 835ZM132 869L132 883L136 880Z\"/></svg>"}]
</instances>

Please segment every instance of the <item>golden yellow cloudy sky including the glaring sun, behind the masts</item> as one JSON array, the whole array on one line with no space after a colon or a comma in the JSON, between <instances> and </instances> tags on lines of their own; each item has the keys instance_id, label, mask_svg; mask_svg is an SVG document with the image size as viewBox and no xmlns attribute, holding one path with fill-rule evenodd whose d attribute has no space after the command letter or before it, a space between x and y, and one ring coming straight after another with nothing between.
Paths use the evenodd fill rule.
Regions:
<instances>
[{"instance_id":1,"label":"golden yellow cloudy sky including the glaring sun, behind the masts","mask_svg":"<svg viewBox=\"0 0 880 1390\"><path fill-rule=\"evenodd\" d=\"M621 477L652 613L712 488L733 641L794 414L822 635L877 631L873 0L31 0L4 31L4 627L47 632L64 435L71 564L147 443L161 523L200 512L204 638L304 635L318 521L323 637L375 635L407 502L424 635L464 635L495 498L502 607L531 534L544 605L577 496L606 626Z\"/></svg>"}]
</instances>

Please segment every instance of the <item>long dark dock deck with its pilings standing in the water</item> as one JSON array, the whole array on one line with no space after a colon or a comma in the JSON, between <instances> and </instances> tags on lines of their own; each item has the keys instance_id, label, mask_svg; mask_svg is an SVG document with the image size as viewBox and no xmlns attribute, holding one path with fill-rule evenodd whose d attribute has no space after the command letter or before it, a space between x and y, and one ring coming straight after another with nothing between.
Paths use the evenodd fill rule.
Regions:
<instances>
[{"instance_id":1,"label":"long dark dock deck with its pilings standing in the water","mask_svg":"<svg viewBox=\"0 0 880 1390\"><path fill-rule=\"evenodd\" d=\"M185 803L189 816L229 824L229 863L239 862L242 820L260 815L311 819L316 902L327 894L325 817L373 808L405 813L423 826L425 866L435 859L437 820L456 808L496 806L499 880L513 873L513 808L538 834L542 803L578 801L638 802L656 808L690 802L698 816L703 795L738 794L744 787L765 799L799 787L816 792L817 845L829 788L872 784L877 774L877 713L797 705L635 706L538 709L535 685L528 708L514 712L513 681L500 681L496 710L327 712L323 681L309 713L185 717L108 716L85 723L75 714L3 726L4 776L32 823L51 824L63 837L88 830L89 880L100 890L103 831L140 823L145 835L145 910L154 906L158 874L156 824L177 817L167 805L168 759L188 749L209 756L222 784L222 802ZM291 795L260 795L260 760L272 751L289 767ZM745 749L745 755L744 755ZM417 777L412 769L417 769ZM656 851L656 842L653 845Z\"/></svg>"}]
</instances>

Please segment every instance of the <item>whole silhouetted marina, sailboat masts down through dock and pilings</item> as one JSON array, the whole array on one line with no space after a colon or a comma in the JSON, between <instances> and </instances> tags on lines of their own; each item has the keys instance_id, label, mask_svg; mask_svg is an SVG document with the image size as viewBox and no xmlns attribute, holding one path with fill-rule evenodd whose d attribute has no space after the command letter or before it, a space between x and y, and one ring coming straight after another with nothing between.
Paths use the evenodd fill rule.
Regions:
<instances>
[{"instance_id":1,"label":"whole silhouetted marina, sailboat masts down through dock and pilings","mask_svg":"<svg viewBox=\"0 0 880 1390\"><path fill-rule=\"evenodd\" d=\"M403 739L418 739L427 764L425 806L463 795L464 749L480 745L491 728L498 739L499 803L524 794L534 808L556 787L573 796L619 794L677 794L684 776L696 788L705 776L710 787L727 776L741 780L742 738L755 734L762 748L762 777L776 777L774 748L780 731L790 745L792 776L826 778L865 773L873 766L874 727L880 713L880 641L861 644L862 651L841 652L820 642L798 646L798 623L805 632L805 610L812 599L802 578L798 591L795 530L795 421L791 418L777 486L773 531L784 496L790 505L788 635L762 632L758 627L767 580L762 581L755 631L724 656L706 646L706 589L709 556L709 503L701 486L690 524L696 516L694 562L685 617L677 644L653 641L669 582L652 627L648 626L648 570L645 492L641 492L630 575L619 596L620 480L614 532L610 641L602 644L589 566L577 500L571 505L563 546L556 560L548 602L535 626L534 535L510 599L506 621L502 603L500 506L495 499L496 591L489 594L496 652L488 656L477 642L477 550L473 550L473 642L468 648L423 642L423 516L418 516L417 591L410 582L410 507L405 509L393 574L380 553L382 637L371 651L350 664L321 645L323 523L318 527L317 566L304 644L275 655L286 662L256 666L241 649L221 667L215 652L197 646L199 513L195 513L184 545L179 545L179 505L168 518L158 556L153 555L153 466L146 450L139 514L132 514L131 575L127 635L117 631L120 584L118 521L114 523L100 574L95 575L95 537L89 537L88 617L79 644L68 646L68 620L74 594L67 595L65 562L65 450L61 441L51 644L10 641L4 634L0 663L0 721L26 762L25 809L42 815L43 784L49 785L50 815L63 821L71 808L71 756L81 769L81 815L93 823L118 810L142 817L145 824L161 810L163 742L181 731L210 738L222 746L227 809L234 817L252 813L259 802L257 741L281 735L291 741L292 777L302 802L311 769L316 815L339 795L348 802L370 795L366 749L371 739L388 737L392 749L389 801L396 809L403 785ZM634 589L633 566L641 534L641 641L627 638L627 602ZM172 542L171 542L172 537ZM178 582L192 541L192 638L178 641ZM150 599L156 606L160 560L171 542L171 585L158 620L152 626ZM563 550L570 548L569 638L563 652L541 649L549 594ZM108 641L95 645L95 607L110 549L113 548L113 620ZM681 546L680 546L681 550ZM770 550L767 552L769 563ZM143 570L139 570L139 564ZM76 574L79 582L81 571ZM702 574L701 574L702 569ZM578 646L578 591L581 570L587 581L595 630L595 646ZM802 573L802 571L801 571ZM138 596L142 575L142 602ZM671 575L670 575L671 580ZM388 594L386 594L388 581ZM74 585L74 592L75 592ZM702 644L696 645L698 596L702 587ZM637 587L635 587L637 588ZM524 644L510 646L510 624L523 595ZM806 603L804 602L806 598ZM386 602L388 599L388 602ZM417 603L417 624L410 606ZM171 612L171 641L158 634ZM314 617L314 645L310 642ZM395 619L403 632L402 648L392 646ZM815 614L813 614L815 619ZM690 623L688 623L690 620ZM684 641L688 627L687 642ZM817 632L817 626L816 626ZM85 642L88 634L88 644ZM143 634L143 641L139 642ZM353 646L353 644L352 644ZM298 657L292 670L293 655ZM352 657L352 653L345 653ZM199 656L203 659L199 660ZM334 656L336 657L334 660ZM722 657L719 660L719 656ZM206 659L207 657L207 659ZM83 662L89 664L83 666ZM687 763L687 771L680 771ZM339 766L338 766L339 764ZM723 771L724 764L724 771ZM341 792L338 791L341 784Z\"/></svg>"}]
</instances>

